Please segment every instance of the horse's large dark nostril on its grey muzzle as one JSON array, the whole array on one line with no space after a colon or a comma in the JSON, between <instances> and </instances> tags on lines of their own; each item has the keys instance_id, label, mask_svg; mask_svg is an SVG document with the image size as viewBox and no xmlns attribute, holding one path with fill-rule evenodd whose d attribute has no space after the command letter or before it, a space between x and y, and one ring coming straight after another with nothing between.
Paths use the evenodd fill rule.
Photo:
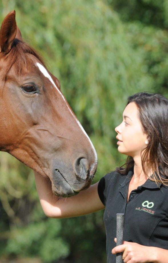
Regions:
<instances>
[{"instance_id":1,"label":"horse's large dark nostril on its grey muzzle","mask_svg":"<svg viewBox=\"0 0 168 263\"><path fill-rule=\"evenodd\" d=\"M86 158L79 158L75 162L75 173L81 179L87 178L89 165Z\"/></svg>"}]
</instances>

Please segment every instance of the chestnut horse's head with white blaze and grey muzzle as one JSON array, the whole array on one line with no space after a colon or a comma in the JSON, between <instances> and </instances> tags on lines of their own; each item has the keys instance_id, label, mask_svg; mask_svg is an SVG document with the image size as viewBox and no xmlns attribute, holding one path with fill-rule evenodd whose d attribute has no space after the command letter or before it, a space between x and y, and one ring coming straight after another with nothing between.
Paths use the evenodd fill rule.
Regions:
<instances>
[{"instance_id":1,"label":"chestnut horse's head with white blaze and grey muzzle","mask_svg":"<svg viewBox=\"0 0 168 263\"><path fill-rule=\"evenodd\" d=\"M60 83L23 42L15 11L0 30L0 150L48 176L57 196L90 186L97 154Z\"/></svg>"}]
</instances>

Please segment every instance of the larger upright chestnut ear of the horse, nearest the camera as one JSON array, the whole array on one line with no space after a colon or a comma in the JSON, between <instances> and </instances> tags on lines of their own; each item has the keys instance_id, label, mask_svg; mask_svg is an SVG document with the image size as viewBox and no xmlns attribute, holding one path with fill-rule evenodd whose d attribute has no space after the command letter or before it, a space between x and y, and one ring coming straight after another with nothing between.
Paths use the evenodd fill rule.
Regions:
<instances>
[{"instance_id":1,"label":"larger upright chestnut ear of the horse, nearest the camera","mask_svg":"<svg viewBox=\"0 0 168 263\"><path fill-rule=\"evenodd\" d=\"M0 30L0 52L9 53L17 33L15 10L10 12L2 22Z\"/></svg>"}]
</instances>

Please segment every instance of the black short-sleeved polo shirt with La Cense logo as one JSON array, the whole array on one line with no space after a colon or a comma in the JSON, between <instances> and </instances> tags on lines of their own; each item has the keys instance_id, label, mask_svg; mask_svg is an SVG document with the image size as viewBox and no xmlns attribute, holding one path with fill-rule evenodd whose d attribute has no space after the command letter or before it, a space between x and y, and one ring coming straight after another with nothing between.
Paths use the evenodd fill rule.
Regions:
<instances>
[{"instance_id":1,"label":"black short-sleeved polo shirt with La Cense logo","mask_svg":"<svg viewBox=\"0 0 168 263\"><path fill-rule=\"evenodd\" d=\"M168 187L148 179L130 193L127 202L132 176L131 170L127 175L111 172L99 181L98 193L105 205L108 263L116 262L111 254L116 246L116 213L125 214L123 240L168 249Z\"/></svg>"}]
</instances>

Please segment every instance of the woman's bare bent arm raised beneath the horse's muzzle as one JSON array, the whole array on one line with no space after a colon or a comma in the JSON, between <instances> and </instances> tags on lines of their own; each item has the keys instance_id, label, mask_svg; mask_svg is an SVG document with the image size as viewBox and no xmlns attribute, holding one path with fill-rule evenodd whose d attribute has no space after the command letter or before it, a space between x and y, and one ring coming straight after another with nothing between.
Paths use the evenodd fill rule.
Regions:
<instances>
[{"instance_id":1,"label":"woman's bare bent arm raised beneath the horse's muzzle","mask_svg":"<svg viewBox=\"0 0 168 263\"><path fill-rule=\"evenodd\" d=\"M34 172L37 192L45 215L53 218L74 217L104 209L97 186L91 185L87 190L68 198L53 195L51 181Z\"/></svg>"}]
</instances>

